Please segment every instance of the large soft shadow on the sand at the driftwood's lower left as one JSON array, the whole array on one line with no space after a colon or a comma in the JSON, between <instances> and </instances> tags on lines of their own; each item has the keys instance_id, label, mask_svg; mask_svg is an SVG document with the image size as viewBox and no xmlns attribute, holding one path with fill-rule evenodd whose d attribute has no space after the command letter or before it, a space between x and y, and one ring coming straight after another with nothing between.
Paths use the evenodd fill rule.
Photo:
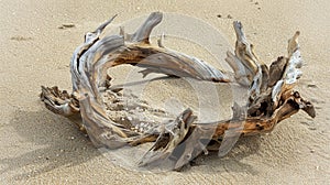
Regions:
<instances>
[{"instance_id":1,"label":"large soft shadow on the sand at the driftwood's lower left","mask_svg":"<svg viewBox=\"0 0 330 185\"><path fill-rule=\"evenodd\" d=\"M30 178L61 166L79 165L100 155L74 124L54 113L16 110L11 127L23 138L22 142L32 145L24 154L0 161L4 166L0 174L15 172L14 179Z\"/></svg>"}]
</instances>

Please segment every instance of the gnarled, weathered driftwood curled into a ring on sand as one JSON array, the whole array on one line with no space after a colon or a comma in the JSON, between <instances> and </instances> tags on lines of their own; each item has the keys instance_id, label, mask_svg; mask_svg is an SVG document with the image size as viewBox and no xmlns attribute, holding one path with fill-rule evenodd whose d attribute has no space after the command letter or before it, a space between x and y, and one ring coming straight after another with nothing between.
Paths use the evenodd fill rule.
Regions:
<instances>
[{"instance_id":1,"label":"gnarled, weathered driftwood curled into a ring on sand","mask_svg":"<svg viewBox=\"0 0 330 185\"><path fill-rule=\"evenodd\" d=\"M88 133L97 148L118 149L153 142L140 165L158 164L170 159L174 168L185 165L201 152L220 150L219 155L223 155L231 149L232 138L270 132L300 109L312 118L316 116L314 106L294 90L301 76L299 32L289 40L287 56L278 57L268 67L255 55L242 24L234 22L235 51L228 52L226 58L234 72L231 79L228 73L201 59L164 47L162 37L158 46L151 45L150 34L162 18L161 12L154 12L134 34L127 34L121 29L119 35L100 37L113 17L96 31L87 33L85 43L76 48L70 62L73 92L42 86L41 99L46 108L72 119ZM237 83L246 87L249 98L244 106L234 104L230 120L198 123L188 108L175 120L153 124L143 131L132 129L131 123L113 121L107 115L107 102L102 98L105 91L110 91L113 94L112 102L120 104L118 96L121 89L111 89L111 77L107 70L122 64L145 68L142 70L144 76L162 73L213 83Z\"/></svg>"}]
</instances>

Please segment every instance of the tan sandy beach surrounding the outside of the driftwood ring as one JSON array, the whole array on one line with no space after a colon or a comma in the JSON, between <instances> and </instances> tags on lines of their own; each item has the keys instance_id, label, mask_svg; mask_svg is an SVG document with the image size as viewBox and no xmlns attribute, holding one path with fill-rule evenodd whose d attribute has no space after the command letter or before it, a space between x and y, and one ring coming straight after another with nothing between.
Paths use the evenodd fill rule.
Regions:
<instances>
[{"instance_id":1,"label":"tan sandy beach surrounding the outside of the driftwood ring","mask_svg":"<svg viewBox=\"0 0 330 185\"><path fill-rule=\"evenodd\" d=\"M330 1L0 0L0 184L330 183ZM116 165L67 119L46 110L38 94L41 85L72 89L69 61L86 32L113 14L120 24L153 11L202 20L232 46L232 22L239 20L266 64L284 55L287 40L300 31L305 65L296 88L315 105L317 117L298 112L270 134L240 140L226 157L204 157L184 172L141 173ZM61 28L64 24L68 26ZM202 28L196 32L202 33ZM183 52L204 56L194 48Z\"/></svg>"}]
</instances>

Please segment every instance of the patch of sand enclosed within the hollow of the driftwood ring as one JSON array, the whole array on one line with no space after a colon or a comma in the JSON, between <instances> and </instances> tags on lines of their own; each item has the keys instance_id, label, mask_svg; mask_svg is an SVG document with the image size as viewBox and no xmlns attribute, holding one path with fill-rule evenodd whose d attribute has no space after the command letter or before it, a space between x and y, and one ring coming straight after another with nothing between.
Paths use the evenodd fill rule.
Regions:
<instances>
[{"instance_id":1,"label":"patch of sand enclosed within the hollow of the driftwood ring","mask_svg":"<svg viewBox=\"0 0 330 185\"><path fill-rule=\"evenodd\" d=\"M120 105L117 101L118 107L111 108L111 105L107 102L109 101L108 96L113 92L109 92L109 89L103 92L110 119L130 122L132 117L136 117L134 113L140 112L141 119L145 117L144 121L158 122L162 120L161 118L173 120L178 112L190 108L198 117L198 122L216 122L230 119L232 117L231 106L238 101L233 98L240 97L239 94L246 94L243 88L238 91L238 87L234 88L228 84L177 78L163 74L150 74L143 77L141 70L143 68L131 65L109 68L108 74L111 74L110 91L122 88L116 99L124 101ZM113 111L111 112L110 109ZM153 118L153 115L157 115L160 118ZM120 118L116 118L116 116Z\"/></svg>"}]
</instances>

